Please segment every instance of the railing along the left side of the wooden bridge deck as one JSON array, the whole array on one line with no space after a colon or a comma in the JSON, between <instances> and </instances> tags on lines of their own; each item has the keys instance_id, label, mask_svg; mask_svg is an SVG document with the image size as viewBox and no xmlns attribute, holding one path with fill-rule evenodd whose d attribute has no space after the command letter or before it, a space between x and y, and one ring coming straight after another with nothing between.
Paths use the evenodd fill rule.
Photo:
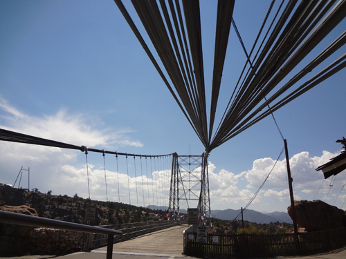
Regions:
<instances>
[{"instance_id":1,"label":"railing along the left side of the wooden bridge deck","mask_svg":"<svg viewBox=\"0 0 346 259\"><path fill-rule=\"evenodd\" d=\"M113 229L122 232L122 236L114 237L114 242L121 242L128 240L129 238L134 238L136 236L142 236L147 233L158 231L161 229L167 229L169 227L174 227L179 224L186 224L187 220L158 220L158 221L145 221L145 222L134 222L125 224L112 224L99 226L104 229ZM95 249L98 247L103 247L107 244L107 236L100 233L94 233L88 242L88 249Z\"/></svg>"}]
</instances>

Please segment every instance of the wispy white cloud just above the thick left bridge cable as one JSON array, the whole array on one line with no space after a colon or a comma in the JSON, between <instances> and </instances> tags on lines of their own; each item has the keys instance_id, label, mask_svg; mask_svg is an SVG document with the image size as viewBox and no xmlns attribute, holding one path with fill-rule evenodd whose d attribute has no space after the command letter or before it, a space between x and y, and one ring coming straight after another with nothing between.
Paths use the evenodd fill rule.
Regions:
<instances>
[{"instance_id":1,"label":"wispy white cloud just above the thick left bridge cable","mask_svg":"<svg viewBox=\"0 0 346 259\"><path fill-rule=\"evenodd\" d=\"M130 129L111 131L110 129L97 128L92 122L98 121L93 117L80 114L69 114L65 108L60 109L55 115L35 117L21 113L12 107L5 99L0 97L0 108L5 112L1 115L0 127L9 131L24 133L37 137L66 142L78 146L143 146L142 143L131 140L127 133Z\"/></svg>"}]
</instances>

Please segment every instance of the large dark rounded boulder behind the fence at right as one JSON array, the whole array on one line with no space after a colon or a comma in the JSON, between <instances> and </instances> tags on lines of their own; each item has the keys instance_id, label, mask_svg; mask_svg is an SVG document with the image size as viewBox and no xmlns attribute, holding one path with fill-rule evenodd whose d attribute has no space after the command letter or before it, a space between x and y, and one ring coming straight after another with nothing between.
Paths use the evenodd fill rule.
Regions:
<instances>
[{"instance_id":1,"label":"large dark rounded boulder behind the fence at right","mask_svg":"<svg viewBox=\"0 0 346 259\"><path fill-rule=\"evenodd\" d=\"M298 226L304 227L309 232L346 227L345 211L321 200L313 200L312 202L295 200L294 207ZM291 206L287 208L287 211L293 219Z\"/></svg>"}]
</instances>

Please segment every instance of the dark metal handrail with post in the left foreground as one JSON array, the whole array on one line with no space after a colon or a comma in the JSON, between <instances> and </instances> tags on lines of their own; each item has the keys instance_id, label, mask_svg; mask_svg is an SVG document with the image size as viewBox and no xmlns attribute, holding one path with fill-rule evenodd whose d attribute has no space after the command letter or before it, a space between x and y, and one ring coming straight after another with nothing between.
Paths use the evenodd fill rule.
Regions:
<instances>
[{"instance_id":1,"label":"dark metal handrail with post in the left foreground","mask_svg":"<svg viewBox=\"0 0 346 259\"><path fill-rule=\"evenodd\" d=\"M0 211L0 222L8 223L8 224L19 224L19 225L30 226L30 227L46 227L46 228L53 228L53 229L64 229L69 231L100 233L100 234L108 235L107 259L112 258L113 237L122 235L122 232L118 230L86 226L86 225L72 223L72 222L51 220L48 218L39 218L32 215L24 215L20 213L9 212L9 211Z\"/></svg>"}]
</instances>

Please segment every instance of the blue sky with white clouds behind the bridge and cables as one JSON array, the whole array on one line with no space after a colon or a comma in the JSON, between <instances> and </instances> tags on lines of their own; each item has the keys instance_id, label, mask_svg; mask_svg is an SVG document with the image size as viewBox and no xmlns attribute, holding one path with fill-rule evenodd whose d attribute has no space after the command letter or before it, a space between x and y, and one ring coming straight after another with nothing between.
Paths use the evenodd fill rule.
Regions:
<instances>
[{"instance_id":1,"label":"blue sky with white clouds behind the bridge and cables","mask_svg":"<svg viewBox=\"0 0 346 259\"><path fill-rule=\"evenodd\" d=\"M154 52L131 3L124 3ZM270 1L251 0L235 3L234 19L248 50L269 4ZM201 1L208 107L216 8L216 1ZM318 55L345 28L344 19L309 58ZM345 50L345 46L340 48L324 65L343 55ZM217 119L226 107L245 60L232 29ZM323 182L322 173L314 169L340 152L341 146L335 141L345 136L345 79L342 70L275 112L289 144L297 200L314 198ZM124 153L187 155L204 151L113 1L0 2L0 128ZM212 151L209 157L211 208L244 207L266 178L283 146L273 119L267 117ZM78 193L87 198L83 153L10 142L0 142L0 147L0 182L13 184L21 166L30 167L30 189L53 190L53 194ZM103 157L90 153L88 159L91 198L106 200ZM138 176L140 164L138 160L136 163ZM124 157L119 157L120 201L127 203L125 164ZM129 164L132 166L129 170L131 203L136 204L135 183L140 183L142 178L135 178L133 159ZM106 169L109 200L118 201L116 160L110 155L106 155ZM169 171L158 171L156 175L167 182ZM345 172L332 184L331 179L325 180L315 198L342 207L345 189L338 194L345 181ZM329 184L333 185L330 191ZM288 206L282 156L249 209L286 211Z\"/></svg>"}]
</instances>

